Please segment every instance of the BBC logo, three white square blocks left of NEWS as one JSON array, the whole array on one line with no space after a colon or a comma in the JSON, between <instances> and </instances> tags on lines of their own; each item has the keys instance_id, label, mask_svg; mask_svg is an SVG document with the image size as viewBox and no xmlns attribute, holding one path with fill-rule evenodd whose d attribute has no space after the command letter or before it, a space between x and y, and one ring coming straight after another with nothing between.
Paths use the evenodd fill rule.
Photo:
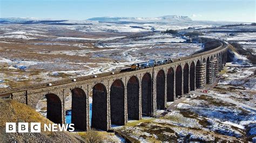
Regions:
<instances>
[{"instance_id":1,"label":"BBC logo, three white square blocks left of NEWS","mask_svg":"<svg viewBox=\"0 0 256 143\"><path fill-rule=\"evenodd\" d=\"M16 123L6 123L5 125L6 133L16 133ZM29 132L29 123L18 123L18 133L28 133ZM41 123L30 123L30 132L31 133L40 133L41 132Z\"/></svg>"}]
</instances>

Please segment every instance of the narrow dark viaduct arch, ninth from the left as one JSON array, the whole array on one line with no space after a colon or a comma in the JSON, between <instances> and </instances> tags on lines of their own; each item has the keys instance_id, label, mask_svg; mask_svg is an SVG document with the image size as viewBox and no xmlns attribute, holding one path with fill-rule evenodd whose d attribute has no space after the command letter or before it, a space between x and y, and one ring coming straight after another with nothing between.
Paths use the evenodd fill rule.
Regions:
<instances>
[{"instance_id":1,"label":"narrow dark viaduct arch, ninth from the left","mask_svg":"<svg viewBox=\"0 0 256 143\"><path fill-rule=\"evenodd\" d=\"M176 96L180 96L182 95L182 68L180 65L176 68L175 83L176 83Z\"/></svg>"}]
</instances>

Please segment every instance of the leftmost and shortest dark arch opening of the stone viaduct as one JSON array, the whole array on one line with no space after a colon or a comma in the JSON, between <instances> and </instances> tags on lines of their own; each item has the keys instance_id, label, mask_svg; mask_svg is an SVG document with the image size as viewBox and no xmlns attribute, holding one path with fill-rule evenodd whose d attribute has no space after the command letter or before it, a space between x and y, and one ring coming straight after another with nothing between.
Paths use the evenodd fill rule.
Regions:
<instances>
[{"instance_id":1,"label":"leftmost and shortest dark arch opening of the stone viaduct","mask_svg":"<svg viewBox=\"0 0 256 143\"><path fill-rule=\"evenodd\" d=\"M62 124L62 102L56 94L46 94L47 118L53 123Z\"/></svg>"}]
</instances>

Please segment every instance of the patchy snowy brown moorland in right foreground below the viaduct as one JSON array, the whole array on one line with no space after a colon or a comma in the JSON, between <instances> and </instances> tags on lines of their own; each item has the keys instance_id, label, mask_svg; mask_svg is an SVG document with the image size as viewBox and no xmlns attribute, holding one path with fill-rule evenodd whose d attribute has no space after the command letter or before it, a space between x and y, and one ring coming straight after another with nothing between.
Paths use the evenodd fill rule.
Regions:
<instances>
[{"instance_id":1,"label":"patchy snowy brown moorland in right foreground below the viaduct","mask_svg":"<svg viewBox=\"0 0 256 143\"><path fill-rule=\"evenodd\" d=\"M164 117L143 118L116 130L139 141L242 141L256 135L255 125L256 110L201 95Z\"/></svg>"}]
</instances>

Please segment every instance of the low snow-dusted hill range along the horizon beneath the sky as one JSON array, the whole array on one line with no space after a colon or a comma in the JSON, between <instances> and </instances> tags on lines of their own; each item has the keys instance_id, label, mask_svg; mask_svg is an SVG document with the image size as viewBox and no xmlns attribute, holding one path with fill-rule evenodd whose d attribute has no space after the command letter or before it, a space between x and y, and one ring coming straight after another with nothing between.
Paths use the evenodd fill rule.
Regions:
<instances>
[{"instance_id":1,"label":"low snow-dusted hill range along the horizon beneath the sky","mask_svg":"<svg viewBox=\"0 0 256 143\"><path fill-rule=\"evenodd\" d=\"M0 18L0 24L47 24L47 25L100 25L99 23L112 24L177 24L182 25L209 25L221 26L240 24L238 22L212 22L192 20L187 16L161 16L161 17L94 17L86 20L68 19L41 19L41 18Z\"/></svg>"}]
</instances>

